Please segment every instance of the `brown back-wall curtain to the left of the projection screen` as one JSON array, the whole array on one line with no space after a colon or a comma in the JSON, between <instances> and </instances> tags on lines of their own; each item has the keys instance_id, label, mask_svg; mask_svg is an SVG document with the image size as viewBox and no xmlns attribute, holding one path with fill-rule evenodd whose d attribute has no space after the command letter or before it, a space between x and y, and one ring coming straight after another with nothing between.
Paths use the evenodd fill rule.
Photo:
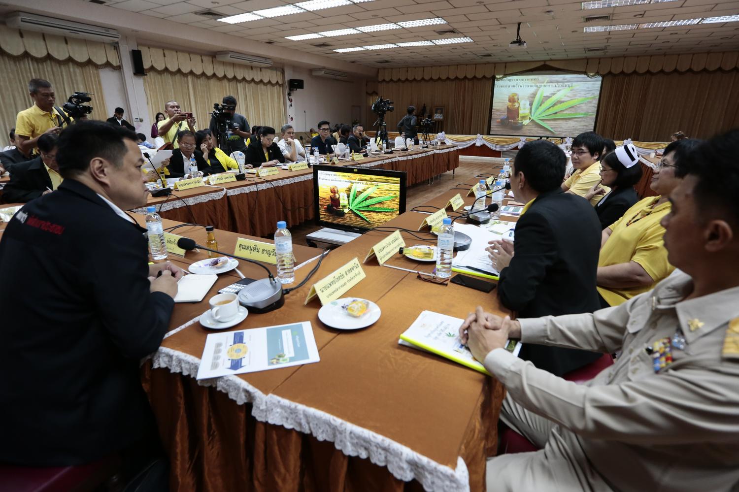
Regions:
<instances>
[{"instance_id":1,"label":"brown back-wall curtain to the left of the projection screen","mask_svg":"<svg viewBox=\"0 0 739 492\"><path fill-rule=\"evenodd\" d=\"M397 129L407 106L420 109L426 104L429 111L433 106L444 106L440 129L446 133L488 133L492 83L492 78L380 82L378 94L395 102L395 112L386 115L387 129Z\"/></svg>"}]
</instances>

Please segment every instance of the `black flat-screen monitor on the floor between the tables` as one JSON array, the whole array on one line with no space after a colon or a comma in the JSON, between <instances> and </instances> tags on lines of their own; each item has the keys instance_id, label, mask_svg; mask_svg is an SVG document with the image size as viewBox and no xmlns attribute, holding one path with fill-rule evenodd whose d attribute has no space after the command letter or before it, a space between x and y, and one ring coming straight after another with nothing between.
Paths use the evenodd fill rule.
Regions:
<instances>
[{"instance_id":1,"label":"black flat-screen monitor on the floor between the tables","mask_svg":"<svg viewBox=\"0 0 739 492\"><path fill-rule=\"evenodd\" d=\"M406 173L386 169L313 166L316 222L361 232L406 211Z\"/></svg>"}]
</instances>

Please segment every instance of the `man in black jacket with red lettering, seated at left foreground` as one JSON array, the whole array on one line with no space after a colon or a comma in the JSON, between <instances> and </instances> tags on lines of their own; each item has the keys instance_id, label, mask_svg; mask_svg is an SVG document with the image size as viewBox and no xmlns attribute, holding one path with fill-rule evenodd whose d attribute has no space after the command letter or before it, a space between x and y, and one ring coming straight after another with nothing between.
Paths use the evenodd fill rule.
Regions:
<instances>
[{"instance_id":1,"label":"man in black jacket with red lettering, seated at left foreground","mask_svg":"<svg viewBox=\"0 0 739 492\"><path fill-rule=\"evenodd\" d=\"M140 472L137 490L167 490L139 366L169 327L183 271L149 266L146 229L124 212L148 195L133 132L77 123L58 147L64 182L18 211L0 241L0 371L13 375L0 385L0 462L119 455L124 484Z\"/></svg>"}]
</instances>

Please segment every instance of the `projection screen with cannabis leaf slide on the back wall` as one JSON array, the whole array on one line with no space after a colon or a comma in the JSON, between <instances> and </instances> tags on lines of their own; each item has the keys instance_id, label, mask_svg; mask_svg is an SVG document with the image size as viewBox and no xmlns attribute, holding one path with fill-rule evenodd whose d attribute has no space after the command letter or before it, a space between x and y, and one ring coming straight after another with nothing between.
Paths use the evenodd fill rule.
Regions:
<instances>
[{"instance_id":1,"label":"projection screen with cannabis leaf slide on the back wall","mask_svg":"<svg viewBox=\"0 0 739 492\"><path fill-rule=\"evenodd\" d=\"M494 82L490 134L575 137L595 129L602 79L511 75Z\"/></svg>"}]
</instances>

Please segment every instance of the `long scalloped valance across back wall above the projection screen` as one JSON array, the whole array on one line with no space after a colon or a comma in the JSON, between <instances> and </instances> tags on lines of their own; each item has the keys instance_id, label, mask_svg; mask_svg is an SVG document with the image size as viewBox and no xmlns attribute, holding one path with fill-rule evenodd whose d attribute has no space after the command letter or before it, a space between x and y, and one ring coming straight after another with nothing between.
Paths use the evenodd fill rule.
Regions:
<instances>
[{"instance_id":1,"label":"long scalloped valance across back wall above the projection screen","mask_svg":"<svg viewBox=\"0 0 739 492\"><path fill-rule=\"evenodd\" d=\"M739 67L739 52L645 55L578 60L511 61L500 64L395 67L378 70L378 81L436 81L448 78L491 78L534 69L562 69L590 75L657 72L701 72Z\"/></svg>"}]
</instances>

